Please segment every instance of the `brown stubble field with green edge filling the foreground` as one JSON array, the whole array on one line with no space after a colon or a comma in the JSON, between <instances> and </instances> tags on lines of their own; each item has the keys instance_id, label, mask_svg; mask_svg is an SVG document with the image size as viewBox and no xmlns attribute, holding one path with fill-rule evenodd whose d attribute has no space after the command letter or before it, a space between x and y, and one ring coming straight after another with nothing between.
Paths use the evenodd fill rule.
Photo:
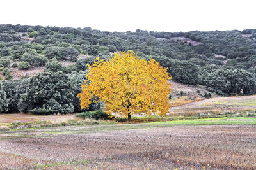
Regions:
<instances>
[{"instance_id":1,"label":"brown stubble field with green edge filling the foreground","mask_svg":"<svg viewBox=\"0 0 256 170\"><path fill-rule=\"evenodd\" d=\"M256 118L208 120L214 121L255 124ZM184 120L1 132L0 169L255 169L256 125L191 125L196 122L207 124Z\"/></svg>"}]
</instances>

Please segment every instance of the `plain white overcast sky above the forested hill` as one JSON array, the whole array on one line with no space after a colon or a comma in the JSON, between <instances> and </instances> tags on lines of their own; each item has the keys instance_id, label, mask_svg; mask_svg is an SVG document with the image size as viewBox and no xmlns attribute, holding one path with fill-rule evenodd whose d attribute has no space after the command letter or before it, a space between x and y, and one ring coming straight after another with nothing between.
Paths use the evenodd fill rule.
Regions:
<instances>
[{"instance_id":1,"label":"plain white overcast sky above the forested hill","mask_svg":"<svg viewBox=\"0 0 256 170\"><path fill-rule=\"evenodd\" d=\"M256 29L255 0L1 0L0 7L0 24L112 32Z\"/></svg>"}]
</instances>

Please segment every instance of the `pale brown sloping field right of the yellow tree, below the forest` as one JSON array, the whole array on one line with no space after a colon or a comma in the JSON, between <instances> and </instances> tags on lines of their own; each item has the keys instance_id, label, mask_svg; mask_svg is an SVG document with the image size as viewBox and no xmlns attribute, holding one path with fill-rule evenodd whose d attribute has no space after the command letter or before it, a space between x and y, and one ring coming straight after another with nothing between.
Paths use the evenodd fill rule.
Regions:
<instances>
[{"instance_id":1,"label":"pale brown sloping field right of the yellow tree, below the forest","mask_svg":"<svg viewBox=\"0 0 256 170\"><path fill-rule=\"evenodd\" d=\"M241 113L256 111L256 95L216 97L170 108L170 115L195 115L200 113Z\"/></svg>"}]
</instances>

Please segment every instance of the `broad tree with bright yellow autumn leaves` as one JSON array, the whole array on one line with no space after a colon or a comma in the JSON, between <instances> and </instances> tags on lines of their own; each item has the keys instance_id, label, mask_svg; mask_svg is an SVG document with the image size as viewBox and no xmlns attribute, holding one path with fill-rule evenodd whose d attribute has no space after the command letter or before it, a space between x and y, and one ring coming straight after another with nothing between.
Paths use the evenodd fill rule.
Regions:
<instances>
[{"instance_id":1,"label":"broad tree with bright yellow autumn leaves","mask_svg":"<svg viewBox=\"0 0 256 170\"><path fill-rule=\"evenodd\" d=\"M81 85L81 108L93 100L106 104L107 113L117 113L131 120L132 114L165 115L170 105L171 76L154 59L139 59L136 53L120 52L109 61L94 61L88 66L88 81Z\"/></svg>"}]
</instances>

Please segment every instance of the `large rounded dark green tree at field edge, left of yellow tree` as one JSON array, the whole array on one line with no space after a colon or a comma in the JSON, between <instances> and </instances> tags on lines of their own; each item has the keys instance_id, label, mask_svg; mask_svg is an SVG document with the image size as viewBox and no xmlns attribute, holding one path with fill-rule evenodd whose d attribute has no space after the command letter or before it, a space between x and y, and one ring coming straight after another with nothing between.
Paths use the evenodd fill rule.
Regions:
<instances>
[{"instance_id":1,"label":"large rounded dark green tree at field edge, left of yellow tree","mask_svg":"<svg viewBox=\"0 0 256 170\"><path fill-rule=\"evenodd\" d=\"M32 113L72 113L72 83L63 72L37 74L29 81L28 110Z\"/></svg>"}]
</instances>

